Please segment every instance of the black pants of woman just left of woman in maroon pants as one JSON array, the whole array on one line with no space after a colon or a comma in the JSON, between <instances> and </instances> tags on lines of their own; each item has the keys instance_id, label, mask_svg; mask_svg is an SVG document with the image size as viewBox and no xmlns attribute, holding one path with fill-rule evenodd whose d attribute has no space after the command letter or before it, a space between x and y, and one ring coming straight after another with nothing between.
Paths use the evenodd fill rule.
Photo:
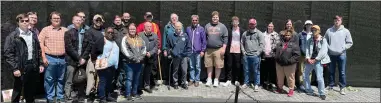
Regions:
<instances>
[{"instance_id":1,"label":"black pants of woman just left of woman in maroon pants","mask_svg":"<svg viewBox=\"0 0 381 103\"><path fill-rule=\"evenodd\" d=\"M276 84L276 69L275 69L275 59L265 57L261 61L261 84L263 87L267 87L271 84ZM266 84L266 83L267 84Z\"/></svg>"}]
</instances>

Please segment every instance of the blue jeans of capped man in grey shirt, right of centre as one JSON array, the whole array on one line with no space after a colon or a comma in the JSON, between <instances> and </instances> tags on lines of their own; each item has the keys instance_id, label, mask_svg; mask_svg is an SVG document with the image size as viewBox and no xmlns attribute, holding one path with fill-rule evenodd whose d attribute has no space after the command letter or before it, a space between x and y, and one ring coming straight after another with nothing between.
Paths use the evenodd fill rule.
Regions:
<instances>
[{"instance_id":1,"label":"blue jeans of capped man in grey shirt, right of centre","mask_svg":"<svg viewBox=\"0 0 381 103\"><path fill-rule=\"evenodd\" d=\"M244 56L245 61L245 84L249 85L250 80L250 74L252 74L254 79L254 85L260 84L260 70L259 70L259 64L261 61L261 58L259 56Z\"/></svg>"}]
</instances>

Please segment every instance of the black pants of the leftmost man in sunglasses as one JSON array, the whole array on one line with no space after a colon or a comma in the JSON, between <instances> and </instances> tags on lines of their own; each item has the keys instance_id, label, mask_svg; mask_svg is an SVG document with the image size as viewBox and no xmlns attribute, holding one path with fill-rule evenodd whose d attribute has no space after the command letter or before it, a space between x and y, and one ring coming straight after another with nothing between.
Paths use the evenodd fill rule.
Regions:
<instances>
[{"instance_id":1,"label":"black pants of the leftmost man in sunglasses","mask_svg":"<svg viewBox=\"0 0 381 103\"><path fill-rule=\"evenodd\" d=\"M20 101L20 96L23 96L27 103L34 102L36 95L36 81L39 78L39 68L37 66L31 65L33 63L27 63L24 71L21 72L21 77L14 77L15 81L13 84L12 92L12 103L18 103ZM13 72L12 72L13 75Z\"/></svg>"}]
</instances>

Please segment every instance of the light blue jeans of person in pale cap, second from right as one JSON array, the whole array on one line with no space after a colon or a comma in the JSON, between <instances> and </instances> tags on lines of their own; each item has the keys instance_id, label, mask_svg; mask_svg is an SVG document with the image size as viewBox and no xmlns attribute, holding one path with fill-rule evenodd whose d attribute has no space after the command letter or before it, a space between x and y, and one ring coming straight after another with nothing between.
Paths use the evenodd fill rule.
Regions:
<instances>
[{"instance_id":1,"label":"light blue jeans of person in pale cap, second from right","mask_svg":"<svg viewBox=\"0 0 381 103\"><path fill-rule=\"evenodd\" d=\"M303 73L305 89L308 93L313 93L311 88L310 74L312 70L315 69L316 79L318 82L318 92L319 95L325 95L324 93L324 78L323 78L323 65L320 61L317 61L315 64L305 64L305 70Z\"/></svg>"}]
</instances>

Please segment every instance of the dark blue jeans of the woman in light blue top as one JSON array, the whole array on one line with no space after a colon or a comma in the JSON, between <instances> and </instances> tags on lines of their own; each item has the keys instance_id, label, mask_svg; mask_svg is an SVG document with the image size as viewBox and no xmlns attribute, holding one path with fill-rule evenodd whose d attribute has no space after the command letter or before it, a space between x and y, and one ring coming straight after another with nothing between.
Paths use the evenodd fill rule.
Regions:
<instances>
[{"instance_id":1,"label":"dark blue jeans of the woman in light blue top","mask_svg":"<svg viewBox=\"0 0 381 103\"><path fill-rule=\"evenodd\" d=\"M113 92L112 80L115 74L114 71L114 66L102 70L97 70L99 76L98 97L100 100L105 100L106 97L111 96L111 93Z\"/></svg>"}]
</instances>

